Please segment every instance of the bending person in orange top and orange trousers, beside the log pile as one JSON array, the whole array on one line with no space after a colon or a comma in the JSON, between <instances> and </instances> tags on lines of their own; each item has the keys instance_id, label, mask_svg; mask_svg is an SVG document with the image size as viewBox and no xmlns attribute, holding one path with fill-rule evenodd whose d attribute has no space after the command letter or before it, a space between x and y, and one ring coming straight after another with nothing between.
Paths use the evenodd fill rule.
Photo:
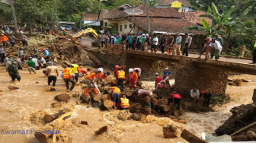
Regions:
<instances>
[{"instance_id":1,"label":"bending person in orange top and orange trousers, beside the log pile","mask_svg":"<svg viewBox=\"0 0 256 143\"><path fill-rule=\"evenodd\" d=\"M83 94L90 96L90 94L88 94L88 91L92 88L92 90L94 91L94 94L98 94L97 88L96 87L92 87L92 82L94 82L94 78L96 77L96 75L99 72L94 71L91 72L91 74L87 75L85 77L85 84L87 84L87 87L85 87L85 90L83 92Z\"/></svg>"}]
</instances>

